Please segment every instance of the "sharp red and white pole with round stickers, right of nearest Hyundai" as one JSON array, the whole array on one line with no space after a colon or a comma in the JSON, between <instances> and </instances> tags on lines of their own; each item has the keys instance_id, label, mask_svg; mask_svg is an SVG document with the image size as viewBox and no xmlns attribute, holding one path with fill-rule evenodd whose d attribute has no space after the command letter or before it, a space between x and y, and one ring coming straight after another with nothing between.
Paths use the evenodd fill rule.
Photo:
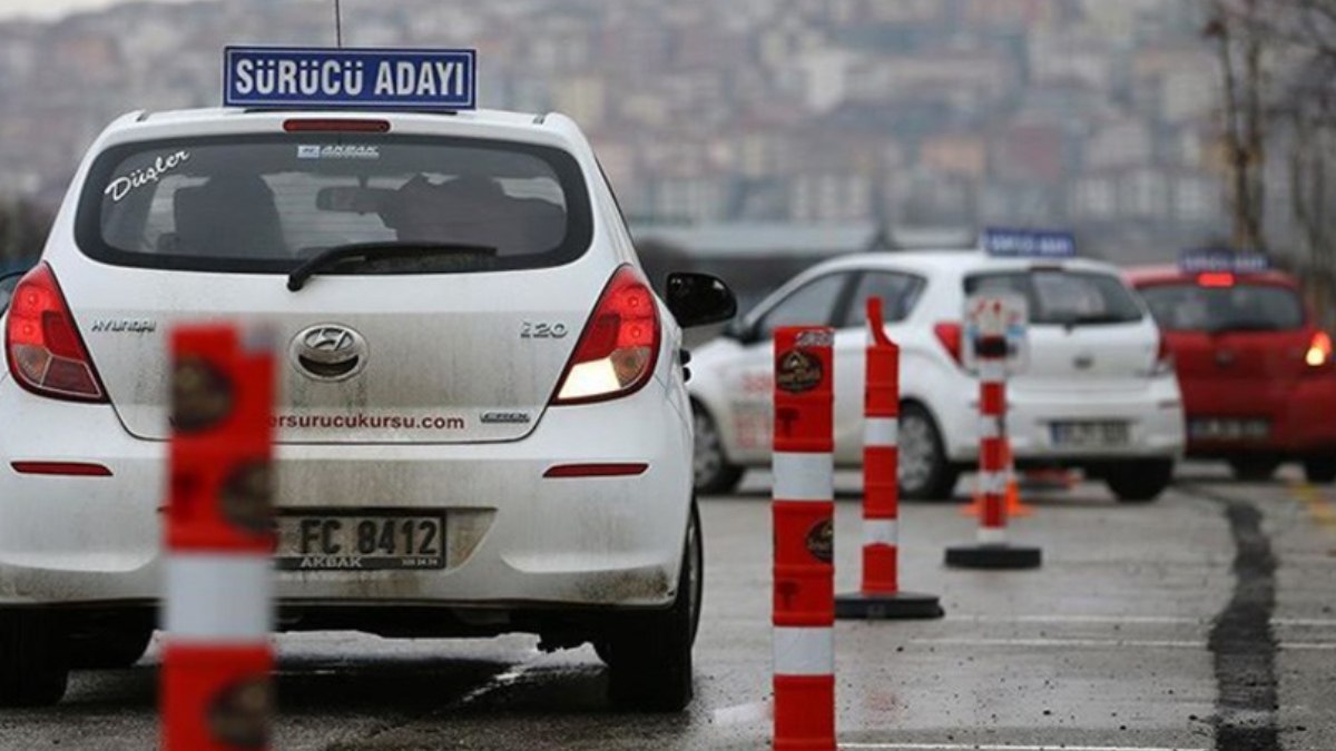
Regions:
<instances>
[{"instance_id":1,"label":"sharp red and white pole with round stickers, right of nearest Hyundai","mask_svg":"<svg viewBox=\"0 0 1336 751\"><path fill-rule=\"evenodd\" d=\"M835 331L775 333L775 748L835 751Z\"/></svg>"}]
</instances>

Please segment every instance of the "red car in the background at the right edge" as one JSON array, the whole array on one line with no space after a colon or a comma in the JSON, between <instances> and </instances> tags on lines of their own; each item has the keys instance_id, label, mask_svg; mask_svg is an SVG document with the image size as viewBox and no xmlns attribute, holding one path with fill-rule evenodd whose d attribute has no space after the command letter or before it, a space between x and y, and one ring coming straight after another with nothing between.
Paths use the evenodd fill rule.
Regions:
<instances>
[{"instance_id":1,"label":"red car in the background at the right edge","mask_svg":"<svg viewBox=\"0 0 1336 751\"><path fill-rule=\"evenodd\" d=\"M1188 456L1242 480L1300 461L1309 482L1336 480L1336 365L1299 282L1275 270L1144 267L1145 297L1174 357Z\"/></svg>"}]
</instances>

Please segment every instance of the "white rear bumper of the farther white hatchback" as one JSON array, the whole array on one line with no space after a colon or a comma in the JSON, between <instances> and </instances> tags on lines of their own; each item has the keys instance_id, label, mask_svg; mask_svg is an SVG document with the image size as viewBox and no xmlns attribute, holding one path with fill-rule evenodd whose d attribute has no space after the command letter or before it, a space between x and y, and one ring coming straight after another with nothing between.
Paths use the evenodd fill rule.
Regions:
<instances>
[{"instance_id":1,"label":"white rear bumper of the farther white hatchback","mask_svg":"<svg viewBox=\"0 0 1336 751\"><path fill-rule=\"evenodd\" d=\"M951 461L978 461L978 397L973 397L949 446ZM1054 422L1126 422L1128 442L1108 448L1057 445ZM1121 392L1021 390L1007 392L1007 436L1013 456L1027 464L1106 462L1140 458L1177 458L1182 454L1184 412L1173 377L1146 380Z\"/></svg>"}]
</instances>

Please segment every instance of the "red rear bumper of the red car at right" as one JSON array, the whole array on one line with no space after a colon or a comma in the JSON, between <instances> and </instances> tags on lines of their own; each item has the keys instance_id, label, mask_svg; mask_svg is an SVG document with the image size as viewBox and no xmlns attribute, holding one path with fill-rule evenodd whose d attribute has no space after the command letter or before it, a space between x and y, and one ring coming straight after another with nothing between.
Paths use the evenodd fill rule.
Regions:
<instances>
[{"instance_id":1,"label":"red rear bumper of the red car at right","mask_svg":"<svg viewBox=\"0 0 1336 751\"><path fill-rule=\"evenodd\" d=\"M1188 420L1268 420L1271 434L1252 441L1188 438L1193 457L1307 456L1336 452L1336 374L1284 381L1188 381Z\"/></svg>"}]
</instances>

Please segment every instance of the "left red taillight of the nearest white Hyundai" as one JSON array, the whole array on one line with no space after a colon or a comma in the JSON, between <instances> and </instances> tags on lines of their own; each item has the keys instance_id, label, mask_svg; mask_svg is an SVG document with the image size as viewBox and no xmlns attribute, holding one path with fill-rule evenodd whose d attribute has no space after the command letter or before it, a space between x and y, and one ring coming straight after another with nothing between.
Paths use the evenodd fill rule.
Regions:
<instances>
[{"instance_id":1,"label":"left red taillight of the nearest white Hyundai","mask_svg":"<svg viewBox=\"0 0 1336 751\"><path fill-rule=\"evenodd\" d=\"M51 267L39 263L19 282L5 325L9 373L24 389L60 400L107 401Z\"/></svg>"}]
</instances>

